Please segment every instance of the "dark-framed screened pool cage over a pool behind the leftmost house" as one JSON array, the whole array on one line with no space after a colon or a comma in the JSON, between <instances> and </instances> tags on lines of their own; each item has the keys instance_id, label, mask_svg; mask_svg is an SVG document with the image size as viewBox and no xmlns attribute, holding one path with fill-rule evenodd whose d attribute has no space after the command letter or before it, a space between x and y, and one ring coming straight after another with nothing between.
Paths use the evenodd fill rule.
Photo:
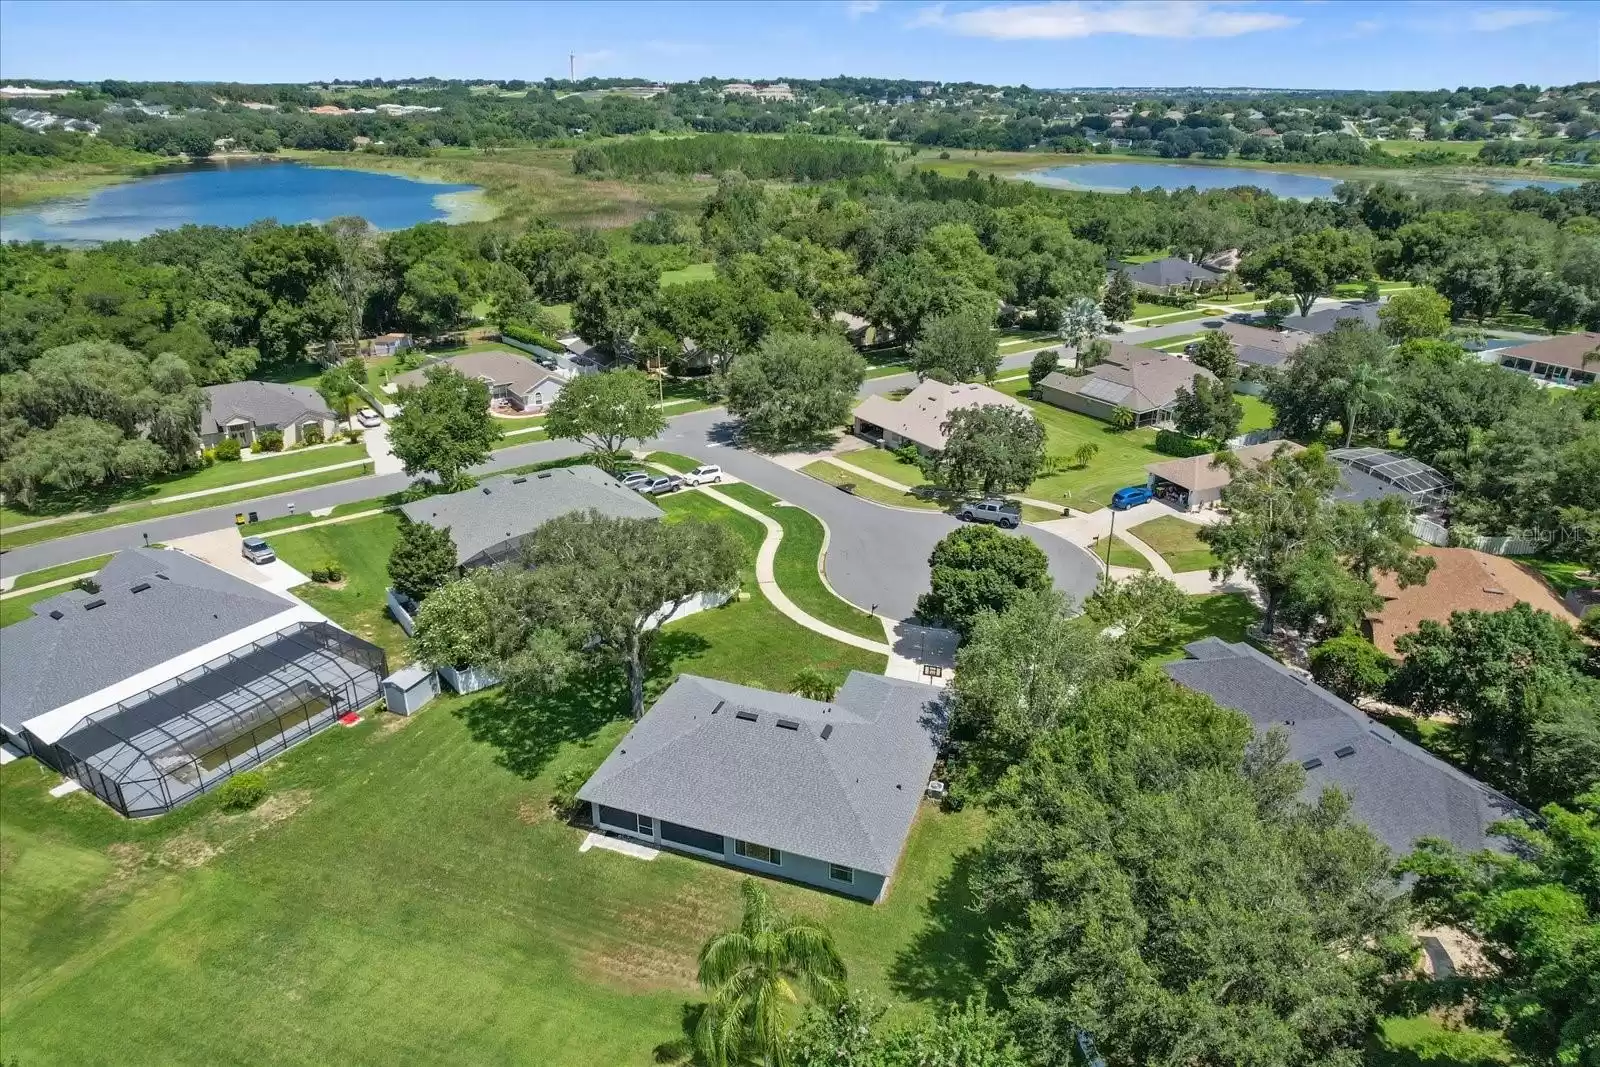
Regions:
<instances>
[{"instance_id":1,"label":"dark-framed screened pool cage over a pool behind the leftmost house","mask_svg":"<svg viewBox=\"0 0 1600 1067\"><path fill-rule=\"evenodd\" d=\"M85 715L35 752L128 817L171 811L382 696L384 649L298 622Z\"/></svg>"}]
</instances>

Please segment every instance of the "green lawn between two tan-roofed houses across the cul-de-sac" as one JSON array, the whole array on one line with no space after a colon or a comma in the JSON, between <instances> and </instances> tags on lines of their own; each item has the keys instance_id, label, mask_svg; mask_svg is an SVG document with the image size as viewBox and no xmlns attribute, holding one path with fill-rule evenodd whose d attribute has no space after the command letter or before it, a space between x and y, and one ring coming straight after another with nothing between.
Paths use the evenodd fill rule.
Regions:
<instances>
[{"instance_id":1,"label":"green lawn between two tan-roofed houses across the cul-de-sac","mask_svg":"<svg viewBox=\"0 0 1600 1067\"><path fill-rule=\"evenodd\" d=\"M1045 450L1061 466L1056 474L1035 478L1027 496L1074 510L1098 510L1117 490L1144 485L1146 464L1166 459L1155 451L1155 430L1115 430L1109 422L1034 400L1027 395L1027 379L1000 382L995 389L1034 410L1045 424ZM1083 443L1098 445L1099 453L1078 469L1070 466L1070 458Z\"/></svg>"}]
</instances>

